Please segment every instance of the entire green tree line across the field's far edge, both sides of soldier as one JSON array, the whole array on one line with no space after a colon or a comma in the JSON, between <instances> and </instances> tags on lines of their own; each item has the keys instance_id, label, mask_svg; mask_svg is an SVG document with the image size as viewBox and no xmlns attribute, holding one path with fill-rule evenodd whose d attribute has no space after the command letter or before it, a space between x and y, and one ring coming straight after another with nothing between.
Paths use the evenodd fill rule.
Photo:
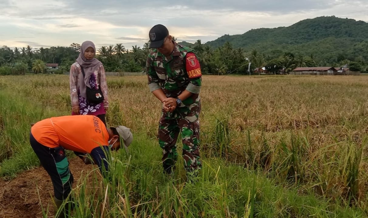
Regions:
<instances>
[{"instance_id":1,"label":"entire green tree line across the field's far edge, both sides of soldier","mask_svg":"<svg viewBox=\"0 0 368 218\"><path fill-rule=\"evenodd\" d=\"M175 37L174 40L176 40ZM287 74L297 67L317 66L348 66L353 71L367 71L367 62L364 60L359 62L357 59L337 57L335 62L327 65L326 61L316 59L314 54L295 55L292 52L281 50L273 54L265 54L256 49L246 51L244 48L234 48L229 41L213 48L197 40L195 44L190 44L190 47L195 50L204 74L245 75L249 73L248 70L250 73L256 73L257 68L264 68L272 74ZM72 43L69 47L41 47L39 49L32 49L30 46L13 49L3 46L0 48L0 75L46 73L45 63L59 64L59 69L53 71L54 73L68 72L78 57L79 51L80 45L77 43ZM96 58L103 63L106 72L144 72L146 58L150 51L149 42L145 43L143 48L136 45L131 49L125 48L120 43L100 47L96 51ZM248 69L249 63L251 65Z\"/></svg>"}]
</instances>

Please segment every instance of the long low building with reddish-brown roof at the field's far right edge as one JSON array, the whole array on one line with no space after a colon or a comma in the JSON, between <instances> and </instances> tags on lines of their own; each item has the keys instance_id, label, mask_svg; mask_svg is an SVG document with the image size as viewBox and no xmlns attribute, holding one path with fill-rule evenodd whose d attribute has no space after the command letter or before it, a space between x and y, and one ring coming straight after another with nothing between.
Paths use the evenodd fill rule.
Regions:
<instances>
[{"instance_id":1,"label":"long low building with reddish-brown roof at the field's far right edge","mask_svg":"<svg viewBox=\"0 0 368 218\"><path fill-rule=\"evenodd\" d=\"M349 68L314 67L295 68L290 75L359 75L360 72L350 71Z\"/></svg>"}]
</instances>

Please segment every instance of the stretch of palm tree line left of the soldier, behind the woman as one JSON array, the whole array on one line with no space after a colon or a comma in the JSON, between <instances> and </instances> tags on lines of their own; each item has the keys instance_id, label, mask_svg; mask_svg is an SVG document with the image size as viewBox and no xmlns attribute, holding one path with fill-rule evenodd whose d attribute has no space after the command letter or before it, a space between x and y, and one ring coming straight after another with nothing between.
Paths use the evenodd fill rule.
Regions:
<instances>
[{"instance_id":1,"label":"stretch of palm tree line left of the soldier, behind the woman","mask_svg":"<svg viewBox=\"0 0 368 218\"><path fill-rule=\"evenodd\" d=\"M145 43L143 49L137 46L128 49L123 44L103 46L96 51L96 58L103 63L106 72L142 72L149 52L148 47L148 43ZM59 64L59 69L53 73L68 72L79 52L80 45L77 43L72 43L69 47L39 49L33 49L31 46L3 46L0 48L0 75L46 73L46 63Z\"/></svg>"}]
</instances>

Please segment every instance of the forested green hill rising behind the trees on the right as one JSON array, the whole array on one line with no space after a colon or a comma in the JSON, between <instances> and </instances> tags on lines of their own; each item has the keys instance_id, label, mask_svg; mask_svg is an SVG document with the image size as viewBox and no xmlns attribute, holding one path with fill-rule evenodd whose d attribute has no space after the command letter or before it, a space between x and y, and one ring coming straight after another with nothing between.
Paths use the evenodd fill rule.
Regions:
<instances>
[{"instance_id":1,"label":"forested green hill rising behind the trees on the right","mask_svg":"<svg viewBox=\"0 0 368 218\"><path fill-rule=\"evenodd\" d=\"M284 52L313 54L331 63L342 59L368 60L368 23L337 17L306 19L288 27L252 29L244 34L224 35L205 43L212 47L229 41L234 48L256 49L269 57Z\"/></svg>"}]
</instances>

